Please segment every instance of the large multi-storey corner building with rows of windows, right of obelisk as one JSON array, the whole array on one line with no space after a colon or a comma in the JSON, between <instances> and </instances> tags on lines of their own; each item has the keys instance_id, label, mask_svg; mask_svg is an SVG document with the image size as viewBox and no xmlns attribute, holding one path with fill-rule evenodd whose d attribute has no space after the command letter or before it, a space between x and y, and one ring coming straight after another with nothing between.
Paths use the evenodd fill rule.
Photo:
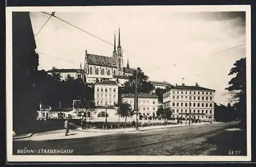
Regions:
<instances>
[{"instance_id":1,"label":"large multi-storey corner building with rows of windows, right of obelisk","mask_svg":"<svg viewBox=\"0 0 256 167\"><path fill-rule=\"evenodd\" d=\"M215 90L196 86L175 86L163 93L163 108L172 110L173 118L214 121Z\"/></svg>"}]
</instances>

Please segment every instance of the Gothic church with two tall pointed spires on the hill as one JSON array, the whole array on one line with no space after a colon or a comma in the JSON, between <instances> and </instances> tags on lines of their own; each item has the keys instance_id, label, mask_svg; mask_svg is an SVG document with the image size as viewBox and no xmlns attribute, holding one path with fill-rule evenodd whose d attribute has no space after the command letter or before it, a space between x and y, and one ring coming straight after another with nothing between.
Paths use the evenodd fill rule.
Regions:
<instances>
[{"instance_id":1,"label":"Gothic church with two tall pointed spires on the hill","mask_svg":"<svg viewBox=\"0 0 256 167\"><path fill-rule=\"evenodd\" d=\"M118 37L118 46L116 48L116 35L114 39L114 50L112 57L103 55L90 54L86 50L84 58L84 72L86 73L87 82L95 83L97 78L112 79L114 75L127 76L133 74L134 69L130 68L129 61L126 67L123 64L123 51L120 42L120 28Z\"/></svg>"}]
</instances>

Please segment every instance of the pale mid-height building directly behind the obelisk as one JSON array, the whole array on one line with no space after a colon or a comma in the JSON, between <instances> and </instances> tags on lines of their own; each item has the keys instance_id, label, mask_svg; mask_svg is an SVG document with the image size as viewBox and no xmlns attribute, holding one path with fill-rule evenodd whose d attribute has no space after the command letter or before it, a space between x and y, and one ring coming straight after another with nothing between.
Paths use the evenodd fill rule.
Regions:
<instances>
[{"instance_id":1,"label":"pale mid-height building directly behind the obelisk","mask_svg":"<svg viewBox=\"0 0 256 167\"><path fill-rule=\"evenodd\" d=\"M134 109L134 94L121 94L122 101L131 104ZM155 94L138 94L138 109L144 118L156 117L158 109L158 96Z\"/></svg>"}]
</instances>

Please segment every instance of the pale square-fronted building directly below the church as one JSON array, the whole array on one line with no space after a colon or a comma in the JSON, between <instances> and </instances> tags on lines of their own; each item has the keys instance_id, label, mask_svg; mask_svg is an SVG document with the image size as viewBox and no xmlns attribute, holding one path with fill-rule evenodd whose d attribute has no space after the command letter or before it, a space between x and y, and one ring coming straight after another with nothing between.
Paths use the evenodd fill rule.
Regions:
<instances>
[{"instance_id":1,"label":"pale square-fronted building directly below the church","mask_svg":"<svg viewBox=\"0 0 256 167\"><path fill-rule=\"evenodd\" d=\"M94 88L95 106L114 106L118 102L118 84L116 81L103 80Z\"/></svg>"}]
</instances>

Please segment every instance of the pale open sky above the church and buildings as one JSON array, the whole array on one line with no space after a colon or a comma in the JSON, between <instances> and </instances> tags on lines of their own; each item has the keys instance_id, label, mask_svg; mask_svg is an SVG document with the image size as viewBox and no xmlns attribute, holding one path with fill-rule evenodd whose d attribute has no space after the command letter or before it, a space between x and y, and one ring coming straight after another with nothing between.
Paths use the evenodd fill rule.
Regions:
<instances>
[{"instance_id":1,"label":"pale open sky above the church and buildings","mask_svg":"<svg viewBox=\"0 0 256 167\"><path fill-rule=\"evenodd\" d=\"M129 59L131 68L140 67L154 81L189 86L198 82L201 87L216 90L215 101L227 105L225 88L233 77L228 73L246 56L245 12L123 9L56 12L55 16L111 44L115 31L118 39L120 26L125 66ZM30 16L37 34L49 15L31 12ZM80 68L80 63L83 68L86 49L88 53L111 56L114 48L55 17L35 41L39 70L53 66Z\"/></svg>"}]
</instances>

